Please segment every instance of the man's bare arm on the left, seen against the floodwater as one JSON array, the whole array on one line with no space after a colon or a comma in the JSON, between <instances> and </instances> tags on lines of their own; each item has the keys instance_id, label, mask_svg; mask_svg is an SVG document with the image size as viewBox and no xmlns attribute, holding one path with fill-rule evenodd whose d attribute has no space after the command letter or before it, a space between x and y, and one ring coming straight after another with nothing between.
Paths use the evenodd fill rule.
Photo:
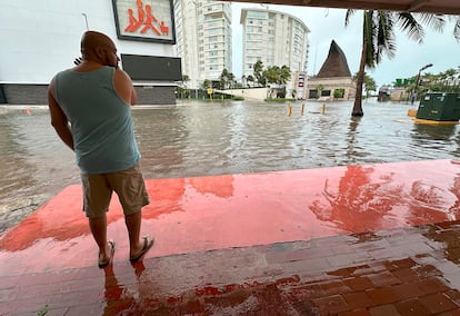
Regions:
<instances>
[{"instance_id":1,"label":"man's bare arm on the left, seen against the floodwater","mask_svg":"<svg viewBox=\"0 0 460 316\"><path fill-rule=\"evenodd\" d=\"M48 87L48 107L51 115L51 125L59 138L73 150L73 137L70 131L69 120L54 98L54 79Z\"/></svg>"}]
</instances>

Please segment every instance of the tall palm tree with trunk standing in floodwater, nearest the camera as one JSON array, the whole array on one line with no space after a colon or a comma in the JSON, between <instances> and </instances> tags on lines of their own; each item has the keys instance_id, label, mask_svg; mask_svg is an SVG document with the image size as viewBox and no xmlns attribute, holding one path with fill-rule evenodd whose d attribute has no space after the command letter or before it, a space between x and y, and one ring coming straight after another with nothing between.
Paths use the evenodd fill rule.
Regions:
<instances>
[{"instance_id":1,"label":"tall palm tree with trunk standing in floodwater, nearest the camera","mask_svg":"<svg viewBox=\"0 0 460 316\"><path fill-rule=\"evenodd\" d=\"M346 27L350 17L356 10L347 10ZM363 116L362 111L362 83L364 79L364 68L374 68L380 63L383 53L393 58L396 53L394 28L399 27L406 31L410 39L418 43L422 42L424 31L421 23L433 27L436 31L441 31L446 21L443 16L430 13L393 12L380 10L364 10L362 19L362 49L361 61L357 76L357 95L354 98L351 116Z\"/></svg>"}]
</instances>

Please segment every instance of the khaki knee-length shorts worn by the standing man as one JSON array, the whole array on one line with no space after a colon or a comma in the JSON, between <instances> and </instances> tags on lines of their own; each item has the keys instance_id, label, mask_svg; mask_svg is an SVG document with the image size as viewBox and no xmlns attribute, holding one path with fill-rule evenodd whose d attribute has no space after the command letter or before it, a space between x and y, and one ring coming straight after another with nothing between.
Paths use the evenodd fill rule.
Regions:
<instances>
[{"instance_id":1,"label":"khaki knee-length shorts worn by the standing man","mask_svg":"<svg viewBox=\"0 0 460 316\"><path fill-rule=\"evenodd\" d=\"M123 171L81 175L83 186L83 211L89 218L104 216L109 210L112 192L116 191L123 214L141 210L150 203L139 164Z\"/></svg>"}]
</instances>

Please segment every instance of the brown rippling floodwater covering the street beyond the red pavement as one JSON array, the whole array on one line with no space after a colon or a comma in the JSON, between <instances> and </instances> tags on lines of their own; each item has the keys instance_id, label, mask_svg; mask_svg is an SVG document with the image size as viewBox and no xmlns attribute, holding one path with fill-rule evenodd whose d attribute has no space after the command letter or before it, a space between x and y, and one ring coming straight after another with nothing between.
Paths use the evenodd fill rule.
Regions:
<instances>
[{"instance_id":1,"label":"brown rippling floodwater covering the street beyond the red pavement","mask_svg":"<svg viewBox=\"0 0 460 316\"><path fill-rule=\"evenodd\" d=\"M288 103L179 101L132 113L147 179L309 169L423 159L458 159L457 125L420 125L413 106L363 101ZM43 201L79 184L73 152L46 108L0 110L0 210Z\"/></svg>"}]
</instances>

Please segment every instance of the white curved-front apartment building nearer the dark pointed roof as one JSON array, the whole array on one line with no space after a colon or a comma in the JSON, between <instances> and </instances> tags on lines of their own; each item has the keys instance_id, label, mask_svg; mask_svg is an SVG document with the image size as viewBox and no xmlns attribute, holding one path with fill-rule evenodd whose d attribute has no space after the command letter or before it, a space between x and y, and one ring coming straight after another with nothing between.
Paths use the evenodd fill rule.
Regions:
<instances>
[{"instance_id":1,"label":"white curved-front apartment building nearer the dark pointed roof","mask_svg":"<svg viewBox=\"0 0 460 316\"><path fill-rule=\"evenodd\" d=\"M298 18L267 9L242 9L242 75L253 75L262 61L264 69L288 66L292 73L307 71L308 33Z\"/></svg>"}]
</instances>

